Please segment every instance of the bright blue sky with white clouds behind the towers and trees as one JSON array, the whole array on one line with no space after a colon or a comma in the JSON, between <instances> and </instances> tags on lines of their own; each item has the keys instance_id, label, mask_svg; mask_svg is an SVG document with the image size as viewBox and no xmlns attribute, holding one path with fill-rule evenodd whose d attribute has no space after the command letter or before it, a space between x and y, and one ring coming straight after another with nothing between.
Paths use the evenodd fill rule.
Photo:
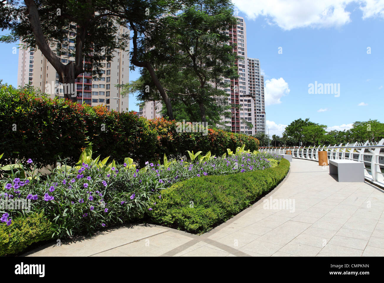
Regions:
<instances>
[{"instance_id":1,"label":"bright blue sky with white clouds behind the towers and trees","mask_svg":"<svg viewBox=\"0 0 384 283\"><path fill-rule=\"evenodd\" d=\"M355 121L384 122L384 0L233 2L247 25L248 57L260 59L265 73L271 135L298 118L339 130ZM12 85L14 46L0 44L0 79ZM137 77L137 71L130 74L130 80ZM309 94L315 81L339 84L339 96ZM130 97L129 109L137 111L136 103Z\"/></svg>"}]
</instances>

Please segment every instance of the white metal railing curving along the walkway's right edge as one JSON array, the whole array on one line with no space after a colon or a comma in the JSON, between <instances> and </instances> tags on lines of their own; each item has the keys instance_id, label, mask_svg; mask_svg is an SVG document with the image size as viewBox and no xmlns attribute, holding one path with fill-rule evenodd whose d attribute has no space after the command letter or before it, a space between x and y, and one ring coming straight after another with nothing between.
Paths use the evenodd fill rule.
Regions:
<instances>
[{"instance_id":1,"label":"white metal railing curving along the walkway's right edge","mask_svg":"<svg viewBox=\"0 0 384 283\"><path fill-rule=\"evenodd\" d=\"M290 150L293 158L318 161L318 152L327 151L328 159L349 159L364 164L364 177L384 186L384 139L379 142L366 141L347 143L343 146L318 147L260 147L260 151L286 154Z\"/></svg>"}]
</instances>

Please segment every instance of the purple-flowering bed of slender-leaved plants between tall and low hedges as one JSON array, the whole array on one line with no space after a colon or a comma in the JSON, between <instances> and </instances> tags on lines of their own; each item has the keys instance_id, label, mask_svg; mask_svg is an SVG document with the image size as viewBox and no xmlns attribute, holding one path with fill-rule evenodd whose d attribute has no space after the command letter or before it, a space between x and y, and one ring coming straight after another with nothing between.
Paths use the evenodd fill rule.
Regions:
<instances>
[{"instance_id":1,"label":"purple-flowering bed of slender-leaved plants between tall and low hedges","mask_svg":"<svg viewBox=\"0 0 384 283\"><path fill-rule=\"evenodd\" d=\"M263 170L271 164L267 157L279 158L238 150L238 154L228 157L207 154L191 162L169 162L165 157L163 165L146 162L146 167L139 170L129 158L122 165L115 161L107 165L108 160L99 161L99 157L93 160L89 147L76 166L59 165L44 179L28 177L28 172L24 179L18 178L17 172L5 174L6 178L0 181L0 198L30 199L31 210L45 211L58 237L84 231L93 233L103 226L142 218L152 209L151 196L156 199L162 189L176 182ZM30 171L33 171L32 165ZM17 209L8 212L12 218L22 213Z\"/></svg>"}]
</instances>

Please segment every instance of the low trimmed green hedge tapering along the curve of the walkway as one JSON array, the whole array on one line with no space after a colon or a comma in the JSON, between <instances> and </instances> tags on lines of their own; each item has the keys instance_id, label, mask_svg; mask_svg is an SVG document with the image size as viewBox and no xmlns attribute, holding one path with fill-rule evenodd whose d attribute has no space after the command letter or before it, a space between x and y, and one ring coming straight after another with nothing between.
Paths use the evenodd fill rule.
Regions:
<instances>
[{"instance_id":1,"label":"low trimmed green hedge tapering along the curve of the walkway","mask_svg":"<svg viewBox=\"0 0 384 283\"><path fill-rule=\"evenodd\" d=\"M275 188L290 162L265 170L189 179L162 191L150 212L154 223L190 233L205 233L247 208L258 196Z\"/></svg>"}]
</instances>

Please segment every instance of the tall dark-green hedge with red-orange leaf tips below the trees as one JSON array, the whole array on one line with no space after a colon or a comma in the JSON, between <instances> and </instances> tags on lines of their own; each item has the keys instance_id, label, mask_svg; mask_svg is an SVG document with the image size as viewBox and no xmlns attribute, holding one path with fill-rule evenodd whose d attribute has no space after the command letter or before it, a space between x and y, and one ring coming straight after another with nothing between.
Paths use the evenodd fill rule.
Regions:
<instances>
[{"instance_id":1,"label":"tall dark-green hedge with red-orange leaf tips below the trees","mask_svg":"<svg viewBox=\"0 0 384 283\"><path fill-rule=\"evenodd\" d=\"M0 84L0 154L4 152L8 164L28 158L54 164L59 156L73 163L89 144L101 157L121 162L128 156L142 165L164 154L181 157L187 150L222 154L243 144L253 151L260 143L254 137L214 129L209 129L207 136L176 132L176 121L148 121L133 111L119 113L36 97L33 89Z\"/></svg>"}]
</instances>

